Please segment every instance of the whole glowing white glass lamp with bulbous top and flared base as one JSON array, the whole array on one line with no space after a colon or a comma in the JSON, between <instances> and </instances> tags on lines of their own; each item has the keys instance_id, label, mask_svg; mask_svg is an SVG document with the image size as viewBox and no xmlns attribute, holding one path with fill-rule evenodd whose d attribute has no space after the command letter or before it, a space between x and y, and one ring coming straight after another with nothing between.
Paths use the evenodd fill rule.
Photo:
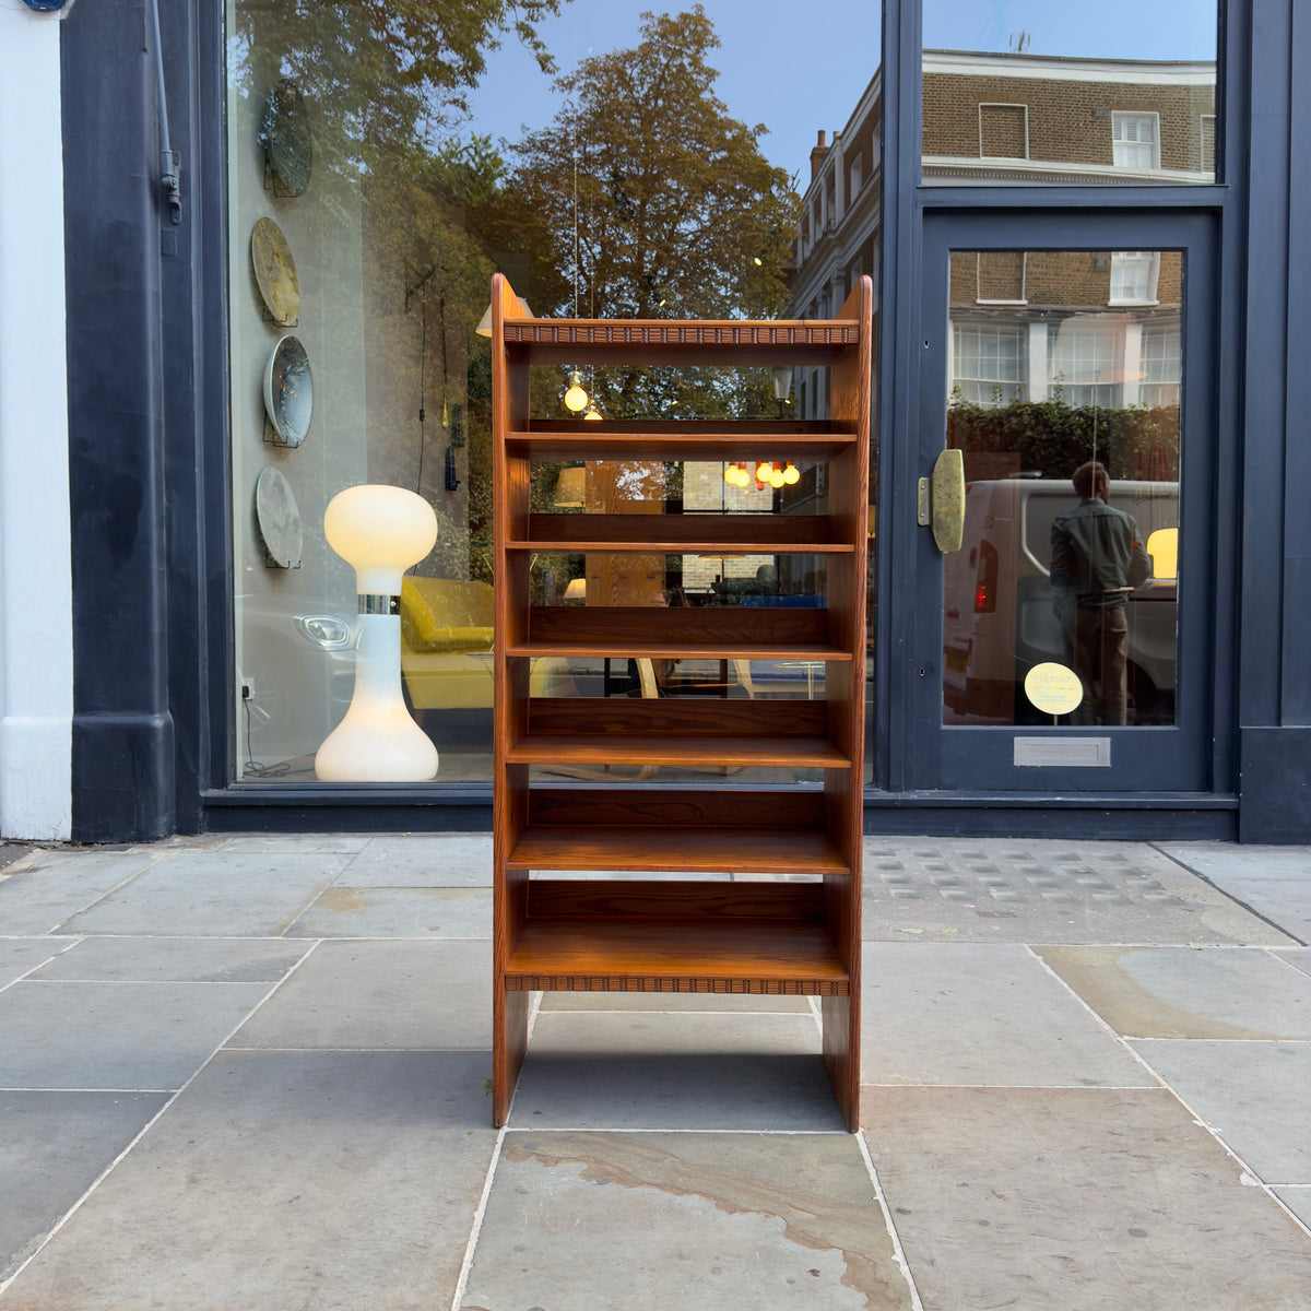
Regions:
<instances>
[{"instance_id":1,"label":"whole glowing white glass lamp with bulbous top and flared base","mask_svg":"<svg viewBox=\"0 0 1311 1311\"><path fill-rule=\"evenodd\" d=\"M401 574L433 549L437 515L404 488L347 488L324 514L328 544L355 569L361 593L355 692L346 717L315 755L328 783L421 783L437 775L437 747L405 709L401 620L391 598Z\"/></svg>"}]
</instances>

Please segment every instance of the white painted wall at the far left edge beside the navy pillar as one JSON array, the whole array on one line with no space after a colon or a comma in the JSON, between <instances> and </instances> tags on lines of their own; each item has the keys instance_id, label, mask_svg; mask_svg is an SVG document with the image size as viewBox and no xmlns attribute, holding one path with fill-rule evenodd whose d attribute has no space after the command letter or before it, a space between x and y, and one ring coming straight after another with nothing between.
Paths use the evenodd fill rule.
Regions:
<instances>
[{"instance_id":1,"label":"white painted wall at the far left edge beside the navy pillar","mask_svg":"<svg viewBox=\"0 0 1311 1311\"><path fill-rule=\"evenodd\" d=\"M67 9L63 10L66 13ZM0 835L72 832L60 13L0 0Z\"/></svg>"}]
</instances>

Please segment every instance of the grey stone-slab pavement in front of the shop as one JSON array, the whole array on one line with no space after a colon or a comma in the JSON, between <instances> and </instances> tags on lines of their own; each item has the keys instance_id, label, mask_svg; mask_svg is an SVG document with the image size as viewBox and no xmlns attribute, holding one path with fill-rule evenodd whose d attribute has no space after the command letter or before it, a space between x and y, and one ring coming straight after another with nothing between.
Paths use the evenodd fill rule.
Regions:
<instances>
[{"instance_id":1,"label":"grey stone-slab pavement in front of the shop","mask_svg":"<svg viewBox=\"0 0 1311 1311\"><path fill-rule=\"evenodd\" d=\"M869 838L805 998L548 994L490 839L0 851L0 1311L1307 1311L1311 850Z\"/></svg>"}]
</instances>

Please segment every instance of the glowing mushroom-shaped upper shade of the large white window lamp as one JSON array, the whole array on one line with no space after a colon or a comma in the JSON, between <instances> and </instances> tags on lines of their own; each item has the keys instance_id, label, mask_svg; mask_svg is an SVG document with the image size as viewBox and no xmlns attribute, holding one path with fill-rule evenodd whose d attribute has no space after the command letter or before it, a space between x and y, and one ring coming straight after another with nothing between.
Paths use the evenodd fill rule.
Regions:
<instances>
[{"instance_id":1,"label":"glowing mushroom-shaped upper shade of the large white window lamp","mask_svg":"<svg viewBox=\"0 0 1311 1311\"><path fill-rule=\"evenodd\" d=\"M324 535L355 566L355 591L399 597L401 574L437 543L437 515L405 488L367 484L328 502Z\"/></svg>"}]
</instances>

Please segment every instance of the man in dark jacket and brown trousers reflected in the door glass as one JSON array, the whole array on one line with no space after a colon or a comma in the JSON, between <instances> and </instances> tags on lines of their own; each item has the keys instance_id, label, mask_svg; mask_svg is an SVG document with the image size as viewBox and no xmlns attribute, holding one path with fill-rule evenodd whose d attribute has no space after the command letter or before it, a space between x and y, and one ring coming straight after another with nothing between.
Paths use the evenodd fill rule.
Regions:
<instances>
[{"instance_id":1,"label":"man in dark jacket and brown trousers reflected in the door glass","mask_svg":"<svg viewBox=\"0 0 1311 1311\"><path fill-rule=\"evenodd\" d=\"M1095 460L1074 471L1079 505L1051 520L1051 585L1083 683L1079 724L1125 724L1129 594L1148 573L1133 515L1108 503L1110 479ZM1072 615L1071 615L1072 611Z\"/></svg>"}]
</instances>

